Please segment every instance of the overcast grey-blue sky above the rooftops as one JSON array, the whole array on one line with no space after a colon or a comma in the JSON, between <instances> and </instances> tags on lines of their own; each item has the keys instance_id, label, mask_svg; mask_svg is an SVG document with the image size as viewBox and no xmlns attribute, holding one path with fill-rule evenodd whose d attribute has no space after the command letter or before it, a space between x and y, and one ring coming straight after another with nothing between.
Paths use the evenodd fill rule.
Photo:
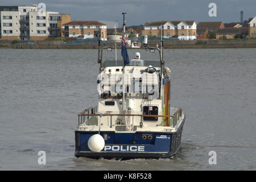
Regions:
<instances>
[{"instance_id":1,"label":"overcast grey-blue sky above the rooftops","mask_svg":"<svg viewBox=\"0 0 256 182\"><path fill-rule=\"evenodd\" d=\"M47 11L71 14L72 20L118 21L122 26L122 12L126 12L127 26L155 20L195 20L240 22L256 16L256 0L0 0L0 6L24 6L46 3ZM216 3L217 16L210 17L209 3Z\"/></svg>"}]
</instances>

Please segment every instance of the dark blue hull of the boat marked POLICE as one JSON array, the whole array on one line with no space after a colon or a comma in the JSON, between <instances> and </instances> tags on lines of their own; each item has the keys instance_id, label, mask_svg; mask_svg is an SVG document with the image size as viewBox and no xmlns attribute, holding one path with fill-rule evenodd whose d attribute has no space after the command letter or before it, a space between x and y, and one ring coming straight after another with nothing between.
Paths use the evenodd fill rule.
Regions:
<instances>
[{"instance_id":1,"label":"dark blue hull of the boat marked POLICE","mask_svg":"<svg viewBox=\"0 0 256 182\"><path fill-rule=\"evenodd\" d=\"M97 131L75 131L76 157L135 159L135 158L171 158L181 145L181 134L185 117L176 132L144 132L115 133L101 131L105 138L105 147L101 152L92 152L88 147L88 139Z\"/></svg>"}]
</instances>

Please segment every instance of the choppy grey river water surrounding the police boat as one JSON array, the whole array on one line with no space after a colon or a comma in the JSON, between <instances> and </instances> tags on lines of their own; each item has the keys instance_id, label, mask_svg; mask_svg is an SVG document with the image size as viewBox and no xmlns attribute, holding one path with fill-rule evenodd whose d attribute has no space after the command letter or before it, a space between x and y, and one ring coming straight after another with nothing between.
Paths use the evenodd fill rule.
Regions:
<instances>
[{"instance_id":1,"label":"choppy grey river water surrounding the police boat","mask_svg":"<svg viewBox=\"0 0 256 182\"><path fill-rule=\"evenodd\" d=\"M0 170L255 170L256 49L166 49L164 59L171 105L187 116L176 157L94 160L75 158L74 131L97 104L97 50L0 49Z\"/></svg>"}]
</instances>

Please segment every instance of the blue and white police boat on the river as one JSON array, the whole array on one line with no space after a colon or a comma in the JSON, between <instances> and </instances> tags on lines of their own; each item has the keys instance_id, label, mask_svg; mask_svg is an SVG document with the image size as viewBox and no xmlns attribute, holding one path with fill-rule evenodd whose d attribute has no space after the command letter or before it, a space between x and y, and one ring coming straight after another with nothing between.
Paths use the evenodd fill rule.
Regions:
<instances>
[{"instance_id":1,"label":"blue and white police boat on the river","mask_svg":"<svg viewBox=\"0 0 256 182\"><path fill-rule=\"evenodd\" d=\"M112 47L98 44L98 105L78 115L75 156L172 158L181 146L185 114L171 107L171 70L164 66L163 41L160 48L149 47L144 36L144 52L157 53L158 60L144 60L141 52L129 60L124 35L125 21L123 36L108 37L115 43L115 59L104 59L103 52L112 52ZM117 44L121 44L120 60Z\"/></svg>"}]
</instances>

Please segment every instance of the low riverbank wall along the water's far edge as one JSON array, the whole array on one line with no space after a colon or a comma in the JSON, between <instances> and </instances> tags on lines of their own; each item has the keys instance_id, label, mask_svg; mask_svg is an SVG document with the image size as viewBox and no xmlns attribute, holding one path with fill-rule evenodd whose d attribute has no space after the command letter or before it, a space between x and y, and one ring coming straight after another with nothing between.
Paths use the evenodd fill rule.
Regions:
<instances>
[{"instance_id":1,"label":"low riverbank wall along the water's far edge","mask_svg":"<svg viewBox=\"0 0 256 182\"><path fill-rule=\"evenodd\" d=\"M16 48L16 49L97 49L97 42L77 42L74 44L63 43L61 41L44 41L29 42L30 44L19 43L13 44L8 41L0 41L0 48ZM141 42L143 44L143 42ZM158 40L148 41L150 47L160 46ZM101 42L101 46L114 46L108 42ZM118 48L121 46L119 45ZM143 48L143 47L142 47ZM228 39L228 40L165 40L164 48L180 49L180 48L256 48L256 39Z\"/></svg>"}]
</instances>

